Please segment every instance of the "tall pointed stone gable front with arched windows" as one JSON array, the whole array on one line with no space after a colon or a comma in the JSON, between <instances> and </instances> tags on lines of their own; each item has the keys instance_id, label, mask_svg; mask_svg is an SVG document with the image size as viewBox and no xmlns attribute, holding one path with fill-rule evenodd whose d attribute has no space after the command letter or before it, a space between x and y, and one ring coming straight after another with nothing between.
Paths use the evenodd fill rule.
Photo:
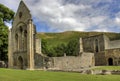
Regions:
<instances>
[{"instance_id":1,"label":"tall pointed stone gable front with arched windows","mask_svg":"<svg viewBox=\"0 0 120 81\"><path fill-rule=\"evenodd\" d=\"M23 1L9 31L9 67L34 69L35 25Z\"/></svg>"}]
</instances>

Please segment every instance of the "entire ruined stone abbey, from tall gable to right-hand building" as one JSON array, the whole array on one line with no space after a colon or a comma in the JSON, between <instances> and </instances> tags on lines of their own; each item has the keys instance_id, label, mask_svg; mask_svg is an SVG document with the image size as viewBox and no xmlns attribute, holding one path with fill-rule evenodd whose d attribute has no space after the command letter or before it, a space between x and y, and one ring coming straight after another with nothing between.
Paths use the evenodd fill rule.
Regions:
<instances>
[{"instance_id":1,"label":"entire ruined stone abbey, from tall gable to right-hand building","mask_svg":"<svg viewBox=\"0 0 120 81\"><path fill-rule=\"evenodd\" d=\"M120 40L107 36L80 38L79 56L47 57L41 53L41 40L30 10L20 2L9 31L9 68L18 69L80 69L94 65L120 65Z\"/></svg>"}]
</instances>

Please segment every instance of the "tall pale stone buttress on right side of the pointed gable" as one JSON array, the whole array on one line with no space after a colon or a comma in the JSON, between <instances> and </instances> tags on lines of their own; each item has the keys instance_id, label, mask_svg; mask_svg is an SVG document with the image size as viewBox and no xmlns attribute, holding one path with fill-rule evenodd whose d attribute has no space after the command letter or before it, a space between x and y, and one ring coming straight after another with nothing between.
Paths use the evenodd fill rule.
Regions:
<instances>
[{"instance_id":1,"label":"tall pale stone buttress on right side of the pointed gable","mask_svg":"<svg viewBox=\"0 0 120 81\"><path fill-rule=\"evenodd\" d=\"M28 21L28 44L27 44L27 53L28 53L28 69L34 69L34 53L35 53L35 41L34 41L34 25L32 19Z\"/></svg>"}]
</instances>

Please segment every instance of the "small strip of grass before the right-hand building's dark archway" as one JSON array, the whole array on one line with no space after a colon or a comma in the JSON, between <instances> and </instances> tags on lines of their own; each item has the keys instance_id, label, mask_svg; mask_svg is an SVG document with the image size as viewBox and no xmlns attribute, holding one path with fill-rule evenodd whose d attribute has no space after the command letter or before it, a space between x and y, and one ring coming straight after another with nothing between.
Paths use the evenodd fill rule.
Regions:
<instances>
[{"instance_id":1,"label":"small strip of grass before the right-hand building's dark archway","mask_svg":"<svg viewBox=\"0 0 120 81\"><path fill-rule=\"evenodd\" d=\"M97 66L95 70L120 70L120 66Z\"/></svg>"}]
</instances>

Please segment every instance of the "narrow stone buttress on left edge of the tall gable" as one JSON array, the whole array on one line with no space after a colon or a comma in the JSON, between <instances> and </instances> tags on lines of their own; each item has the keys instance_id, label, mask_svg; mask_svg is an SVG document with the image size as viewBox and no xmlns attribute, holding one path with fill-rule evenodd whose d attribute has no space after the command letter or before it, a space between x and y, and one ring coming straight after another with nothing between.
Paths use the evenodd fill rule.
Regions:
<instances>
[{"instance_id":1,"label":"narrow stone buttress on left edge of the tall gable","mask_svg":"<svg viewBox=\"0 0 120 81\"><path fill-rule=\"evenodd\" d=\"M9 35L8 35L8 67L12 68L13 67L13 49L12 49L12 36L11 36L11 29L9 30Z\"/></svg>"}]
</instances>

